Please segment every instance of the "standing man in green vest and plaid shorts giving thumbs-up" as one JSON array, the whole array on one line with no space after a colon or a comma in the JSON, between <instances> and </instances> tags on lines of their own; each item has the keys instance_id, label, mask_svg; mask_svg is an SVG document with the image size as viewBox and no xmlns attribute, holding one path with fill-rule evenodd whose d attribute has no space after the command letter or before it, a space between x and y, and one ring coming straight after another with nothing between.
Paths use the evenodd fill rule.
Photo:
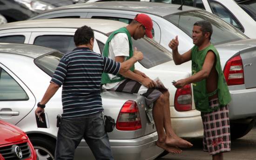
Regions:
<instances>
[{"instance_id":1,"label":"standing man in green vest and plaid shorts giving thumbs-up","mask_svg":"<svg viewBox=\"0 0 256 160\"><path fill-rule=\"evenodd\" d=\"M193 27L195 44L182 55L178 52L178 36L171 40L176 65L192 60L192 76L174 83L176 88L192 83L195 108L201 111L204 138L203 150L213 160L223 160L223 152L230 151L229 102L231 100L223 76L219 53L210 43L212 26L208 21L197 21Z\"/></svg>"}]
</instances>

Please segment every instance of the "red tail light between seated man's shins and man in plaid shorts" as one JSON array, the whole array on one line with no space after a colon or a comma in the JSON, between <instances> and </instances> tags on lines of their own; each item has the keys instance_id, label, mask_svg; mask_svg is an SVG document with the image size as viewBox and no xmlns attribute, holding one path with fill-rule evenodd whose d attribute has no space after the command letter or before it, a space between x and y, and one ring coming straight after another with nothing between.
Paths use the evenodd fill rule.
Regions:
<instances>
[{"instance_id":1,"label":"red tail light between seated man's shins and man in plaid shorts","mask_svg":"<svg viewBox=\"0 0 256 160\"><path fill-rule=\"evenodd\" d=\"M176 90L174 98L174 107L176 111L183 112L192 109L192 91L190 85Z\"/></svg>"}]
</instances>

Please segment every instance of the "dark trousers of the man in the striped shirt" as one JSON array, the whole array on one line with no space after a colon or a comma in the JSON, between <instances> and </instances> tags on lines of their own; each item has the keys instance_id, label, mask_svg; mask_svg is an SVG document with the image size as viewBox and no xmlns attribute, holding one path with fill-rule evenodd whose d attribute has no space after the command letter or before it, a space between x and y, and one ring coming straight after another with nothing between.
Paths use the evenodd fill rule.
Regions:
<instances>
[{"instance_id":1,"label":"dark trousers of the man in the striped shirt","mask_svg":"<svg viewBox=\"0 0 256 160\"><path fill-rule=\"evenodd\" d=\"M57 136L55 160L73 160L74 150L84 138L96 160L114 160L102 113L83 118L63 118Z\"/></svg>"}]
</instances>

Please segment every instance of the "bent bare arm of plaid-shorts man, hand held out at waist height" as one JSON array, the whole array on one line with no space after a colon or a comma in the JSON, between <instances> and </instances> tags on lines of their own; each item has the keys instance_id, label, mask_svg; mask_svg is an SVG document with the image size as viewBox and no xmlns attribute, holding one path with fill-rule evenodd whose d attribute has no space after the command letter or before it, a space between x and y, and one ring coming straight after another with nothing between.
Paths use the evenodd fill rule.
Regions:
<instances>
[{"instance_id":1,"label":"bent bare arm of plaid-shorts man, hand held out at waist height","mask_svg":"<svg viewBox=\"0 0 256 160\"><path fill-rule=\"evenodd\" d=\"M195 83L200 80L206 79L211 72L211 69L215 63L215 53L212 51L208 51L206 54L202 70L194 75L190 76L189 78L178 80L175 84L173 84L176 88L182 88L187 84Z\"/></svg>"}]
</instances>

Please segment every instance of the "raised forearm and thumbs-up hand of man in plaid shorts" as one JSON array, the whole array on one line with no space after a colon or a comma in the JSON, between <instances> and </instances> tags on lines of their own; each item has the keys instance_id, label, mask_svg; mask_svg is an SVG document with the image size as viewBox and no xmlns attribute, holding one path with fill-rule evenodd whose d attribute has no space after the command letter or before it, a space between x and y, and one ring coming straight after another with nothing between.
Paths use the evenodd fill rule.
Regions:
<instances>
[{"instance_id":1,"label":"raised forearm and thumbs-up hand of man in plaid shorts","mask_svg":"<svg viewBox=\"0 0 256 160\"><path fill-rule=\"evenodd\" d=\"M169 43L169 47L172 49L173 60L175 62L175 65L180 65L182 63L185 63L191 60L191 49L188 52L183 53L181 55L178 51L178 46L179 46L179 40L178 40L178 36L176 36L175 39L172 39Z\"/></svg>"}]
</instances>

